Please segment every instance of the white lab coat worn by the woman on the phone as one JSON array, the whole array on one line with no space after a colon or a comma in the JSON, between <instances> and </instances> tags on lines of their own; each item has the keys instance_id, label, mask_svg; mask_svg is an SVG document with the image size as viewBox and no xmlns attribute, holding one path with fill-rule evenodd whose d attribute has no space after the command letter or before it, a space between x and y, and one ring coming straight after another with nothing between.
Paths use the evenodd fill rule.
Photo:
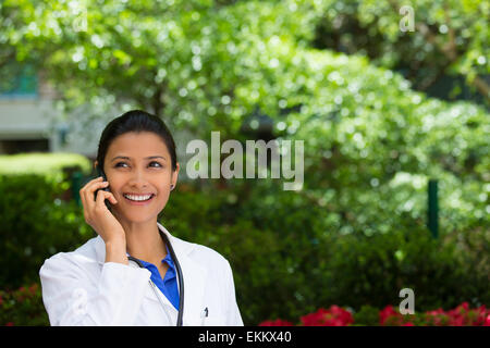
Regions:
<instances>
[{"instance_id":1,"label":"white lab coat worn by the woman on the phone","mask_svg":"<svg viewBox=\"0 0 490 348\"><path fill-rule=\"evenodd\" d=\"M228 260L157 224L169 237L184 275L183 325L243 326ZM132 261L126 265L105 260L106 244L97 236L45 261L39 276L51 325L176 324L176 309L150 282L148 270Z\"/></svg>"}]
</instances>

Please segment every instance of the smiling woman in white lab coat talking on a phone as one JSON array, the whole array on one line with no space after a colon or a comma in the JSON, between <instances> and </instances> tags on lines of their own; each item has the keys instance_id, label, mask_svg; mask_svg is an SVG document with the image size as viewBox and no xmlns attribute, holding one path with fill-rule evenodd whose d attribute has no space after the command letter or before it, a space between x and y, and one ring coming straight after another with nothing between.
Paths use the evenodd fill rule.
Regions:
<instances>
[{"instance_id":1,"label":"smiling woman in white lab coat talking on a phone","mask_svg":"<svg viewBox=\"0 0 490 348\"><path fill-rule=\"evenodd\" d=\"M243 325L228 260L158 223L180 170L166 124L139 110L112 120L94 166L81 199L98 237L39 271L51 325Z\"/></svg>"}]
</instances>

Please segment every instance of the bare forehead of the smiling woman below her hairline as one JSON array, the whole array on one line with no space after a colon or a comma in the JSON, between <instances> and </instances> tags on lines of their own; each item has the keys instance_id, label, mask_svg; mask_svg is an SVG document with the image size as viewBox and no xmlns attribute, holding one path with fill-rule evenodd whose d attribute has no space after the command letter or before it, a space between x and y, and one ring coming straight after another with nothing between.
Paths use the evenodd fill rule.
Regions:
<instances>
[{"instance_id":1,"label":"bare forehead of the smiling woman below her hairline","mask_svg":"<svg viewBox=\"0 0 490 348\"><path fill-rule=\"evenodd\" d=\"M163 139L151 132L130 132L114 138L108 148L106 158L124 154L132 158L147 156L169 156Z\"/></svg>"}]
</instances>

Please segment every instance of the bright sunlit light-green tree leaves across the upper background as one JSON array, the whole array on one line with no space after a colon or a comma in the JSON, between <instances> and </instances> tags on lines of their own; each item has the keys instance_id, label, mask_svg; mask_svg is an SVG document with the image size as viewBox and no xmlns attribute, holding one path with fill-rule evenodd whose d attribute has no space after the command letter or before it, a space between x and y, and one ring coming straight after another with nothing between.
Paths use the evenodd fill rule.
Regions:
<instances>
[{"instance_id":1,"label":"bright sunlit light-green tree leaves across the upper background","mask_svg":"<svg viewBox=\"0 0 490 348\"><path fill-rule=\"evenodd\" d=\"M244 127L257 130L267 119L273 136L305 140L305 191L319 204L328 204L333 198L324 192L334 191L338 204L345 203L338 210L371 197L388 201L381 209L411 207L421 215L421 204L407 201L411 187L392 195L389 183L400 172L461 177L469 191L489 179L488 112L427 98L387 69L404 57L422 62L441 48L449 50L457 28L455 40L469 42L470 50L451 69L468 78L488 73L483 16L468 22L485 10L482 2L448 10L441 1L413 2L417 21L438 28L433 42L421 32L400 30L399 4L370 0L87 0L86 30L73 26L76 13L70 14L66 3L7 3L23 11L2 9L11 24L0 39L17 50L19 60L38 52L41 59L34 61L78 117L143 108L201 138L220 130L222 138L237 139ZM442 26L445 15L452 26ZM319 22L342 30L352 17L368 35L342 34L339 45L348 55L311 48ZM371 39L381 42L373 61L363 52ZM400 40L406 45L399 49ZM78 109L84 112L72 112ZM471 195L452 201L462 199L469 199L462 207L485 211ZM369 221L379 207L363 207L365 213L356 214Z\"/></svg>"}]
</instances>

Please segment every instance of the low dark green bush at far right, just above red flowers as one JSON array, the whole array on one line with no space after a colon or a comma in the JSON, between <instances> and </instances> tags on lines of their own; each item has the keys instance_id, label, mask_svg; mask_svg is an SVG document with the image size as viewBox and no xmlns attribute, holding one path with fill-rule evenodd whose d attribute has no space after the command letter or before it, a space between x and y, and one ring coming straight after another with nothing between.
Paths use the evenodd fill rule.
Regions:
<instances>
[{"instance_id":1,"label":"low dark green bush at far right, just above red flowers","mask_svg":"<svg viewBox=\"0 0 490 348\"><path fill-rule=\"evenodd\" d=\"M488 274L476 272L456 244L432 239L425 227L400 228L370 237L338 238L327 256L320 303L359 309L400 302L399 291L412 288L416 307L454 307L467 299L473 306L490 303Z\"/></svg>"}]
</instances>

